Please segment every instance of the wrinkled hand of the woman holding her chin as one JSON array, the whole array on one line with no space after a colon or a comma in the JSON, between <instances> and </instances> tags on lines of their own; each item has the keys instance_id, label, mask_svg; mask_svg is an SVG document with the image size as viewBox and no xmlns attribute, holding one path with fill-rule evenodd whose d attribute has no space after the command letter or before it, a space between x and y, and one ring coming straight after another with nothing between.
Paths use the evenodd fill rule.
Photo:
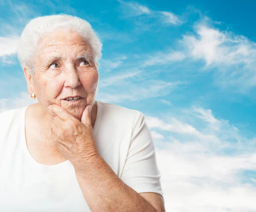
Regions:
<instances>
[{"instance_id":1,"label":"wrinkled hand of the woman holding her chin","mask_svg":"<svg viewBox=\"0 0 256 212\"><path fill-rule=\"evenodd\" d=\"M49 110L54 116L51 138L62 155L75 167L85 165L94 155L98 155L91 125L92 106L84 109L81 121L61 106L52 104Z\"/></svg>"}]
</instances>

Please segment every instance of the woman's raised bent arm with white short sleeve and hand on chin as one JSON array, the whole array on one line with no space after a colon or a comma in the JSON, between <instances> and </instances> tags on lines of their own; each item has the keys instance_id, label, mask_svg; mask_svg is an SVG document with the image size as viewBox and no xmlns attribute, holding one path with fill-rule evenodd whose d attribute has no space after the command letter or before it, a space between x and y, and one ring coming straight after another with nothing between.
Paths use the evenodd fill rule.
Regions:
<instances>
[{"instance_id":1,"label":"woman's raised bent arm with white short sleeve and hand on chin","mask_svg":"<svg viewBox=\"0 0 256 212\"><path fill-rule=\"evenodd\" d=\"M155 209L137 192L153 191L163 195L154 145L144 115L139 112L134 117L128 155L119 178L98 153L89 107L84 109L81 122L57 105L52 105L50 112L55 115L51 129L52 141L73 164L79 186L90 209L161 211ZM147 198L152 200L152 196Z\"/></svg>"}]
</instances>

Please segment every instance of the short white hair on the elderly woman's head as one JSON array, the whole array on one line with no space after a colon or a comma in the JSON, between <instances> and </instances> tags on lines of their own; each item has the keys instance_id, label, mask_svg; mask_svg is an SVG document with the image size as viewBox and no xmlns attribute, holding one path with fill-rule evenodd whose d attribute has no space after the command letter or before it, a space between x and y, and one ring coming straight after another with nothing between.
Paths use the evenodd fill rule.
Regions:
<instances>
[{"instance_id":1,"label":"short white hair on the elderly woman's head","mask_svg":"<svg viewBox=\"0 0 256 212\"><path fill-rule=\"evenodd\" d=\"M94 32L90 23L86 20L67 14L36 17L27 23L20 36L17 48L17 57L21 67L28 67L28 72L34 74L34 55L39 40L41 40L47 32L63 28L72 32L77 32L90 44L94 62L96 67L98 67L98 60L102 56L102 43L96 32Z\"/></svg>"}]
</instances>

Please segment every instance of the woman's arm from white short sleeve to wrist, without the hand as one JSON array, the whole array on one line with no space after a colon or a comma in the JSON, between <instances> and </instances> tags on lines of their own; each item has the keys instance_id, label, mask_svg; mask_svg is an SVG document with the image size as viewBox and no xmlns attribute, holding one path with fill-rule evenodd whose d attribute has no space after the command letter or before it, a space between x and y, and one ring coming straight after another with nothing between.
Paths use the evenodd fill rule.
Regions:
<instances>
[{"instance_id":1,"label":"woman's arm from white short sleeve to wrist, without the hand","mask_svg":"<svg viewBox=\"0 0 256 212\"><path fill-rule=\"evenodd\" d=\"M95 155L90 160L91 167L77 171L79 185L84 187L84 198L92 210L165 212L154 144L142 113L135 117L120 178L100 155Z\"/></svg>"}]
</instances>

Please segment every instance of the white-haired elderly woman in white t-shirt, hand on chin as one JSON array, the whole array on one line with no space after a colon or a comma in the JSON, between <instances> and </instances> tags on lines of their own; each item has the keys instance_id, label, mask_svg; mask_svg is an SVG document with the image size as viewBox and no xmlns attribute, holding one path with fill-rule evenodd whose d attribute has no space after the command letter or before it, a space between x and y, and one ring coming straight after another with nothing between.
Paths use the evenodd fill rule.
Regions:
<instances>
[{"instance_id":1,"label":"white-haired elderly woman in white t-shirt, hand on chin","mask_svg":"<svg viewBox=\"0 0 256 212\"><path fill-rule=\"evenodd\" d=\"M31 20L18 45L38 103L0 114L1 212L163 212L143 113L95 100L102 44L70 15Z\"/></svg>"}]
</instances>

